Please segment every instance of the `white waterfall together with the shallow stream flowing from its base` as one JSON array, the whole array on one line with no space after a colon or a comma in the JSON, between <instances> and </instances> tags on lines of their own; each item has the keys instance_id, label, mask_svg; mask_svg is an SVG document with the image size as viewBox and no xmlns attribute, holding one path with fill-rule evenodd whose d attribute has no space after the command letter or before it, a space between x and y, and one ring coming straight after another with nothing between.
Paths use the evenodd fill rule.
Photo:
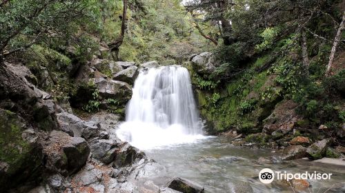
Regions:
<instances>
[{"instance_id":1,"label":"white waterfall together with the shallow stream flowing from its base","mask_svg":"<svg viewBox=\"0 0 345 193\"><path fill-rule=\"evenodd\" d=\"M268 185L258 179L259 171L325 172L331 180L310 180L306 192L345 192L345 167L322 165L307 160L279 161L273 150L250 150L231 145L223 137L202 135L188 70L177 65L143 69L126 108L126 122L117 136L144 150L148 157L165 167L149 177L165 185L180 176L204 185L206 192L229 192L246 182L254 192L293 192L284 183ZM259 157L275 157L275 163L259 164ZM321 188L321 189L320 189ZM297 190L296 190L297 191Z\"/></svg>"}]
</instances>

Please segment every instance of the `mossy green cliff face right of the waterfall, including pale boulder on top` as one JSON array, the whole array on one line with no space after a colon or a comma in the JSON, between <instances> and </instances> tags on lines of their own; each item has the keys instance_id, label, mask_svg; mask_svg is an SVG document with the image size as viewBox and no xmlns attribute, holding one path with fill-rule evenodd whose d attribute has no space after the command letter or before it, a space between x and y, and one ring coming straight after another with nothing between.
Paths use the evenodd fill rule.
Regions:
<instances>
[{"instance_id":1,"label":"mossy green cliff face right of the waterfall, including pale boulder on top","mask_svg":"<svg viewBox=\"0 0 345 193\"><path fill-rule=\"evenodd\" d=\"M255 147L286 148L295 136L311 141L332 138L344 145L344 95L337 86L344 84L340 78L343 68L324 83L311 83L298 90L295 88L302 85L296 85L296 77L289 74L294 72L285 77L275 74L285 64L272 64L266 55L244 63L246 72L228 81L208 78L219 63L213 54L203 53L184 64L191 73L208 133L242 138L234 143L253 143Z\"/></svg>"}]
</instances>

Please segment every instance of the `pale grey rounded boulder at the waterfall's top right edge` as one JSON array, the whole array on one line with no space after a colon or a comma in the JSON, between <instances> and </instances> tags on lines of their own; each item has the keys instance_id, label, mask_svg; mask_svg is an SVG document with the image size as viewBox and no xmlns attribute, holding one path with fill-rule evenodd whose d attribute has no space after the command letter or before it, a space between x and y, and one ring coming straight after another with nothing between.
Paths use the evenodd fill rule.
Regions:
<instances>
[{"instance_id":1,"label":"pale grey rounded boulder at the waterfall's top right edge","mask_svg":"<svg viewBox=\"0 0 345 193\"><path fill-rule=\"evenodd\" d=\"M215 60L215 57L210 52L202 52L201 54L193 57L193 68L197 70L199 74L211 74L215 71L215 68L219 63Z\"/></svg>"}]
</instances>

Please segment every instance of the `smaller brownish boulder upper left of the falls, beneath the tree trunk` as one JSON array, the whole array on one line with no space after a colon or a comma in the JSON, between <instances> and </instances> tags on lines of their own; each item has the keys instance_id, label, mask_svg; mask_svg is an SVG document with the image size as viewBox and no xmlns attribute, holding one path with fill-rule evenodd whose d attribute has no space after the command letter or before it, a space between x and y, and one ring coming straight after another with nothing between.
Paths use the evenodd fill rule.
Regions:
<instances>
[{"instance_id":1,"label":"smaller brownish boulder upper left of the falls, beneath the tree trunk","mask_svg":"<svg viewBox=\"0 0 345 193\"><path fill-rule=\"evenodd\" d=\"M95 59L91 63L92 66L95 66L99 72L106 74L108 77L112 77L112 74L116 74L121 70L124 70L121 65L115 63L115 61L109 61L106 59Z\"/></svg>"}]
</instances>

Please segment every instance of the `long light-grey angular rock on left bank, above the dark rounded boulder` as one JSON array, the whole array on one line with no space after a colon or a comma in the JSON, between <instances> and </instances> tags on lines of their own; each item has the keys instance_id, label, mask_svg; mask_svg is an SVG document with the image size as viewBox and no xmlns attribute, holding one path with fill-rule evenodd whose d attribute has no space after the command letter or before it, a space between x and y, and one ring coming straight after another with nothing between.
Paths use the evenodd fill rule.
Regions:
<instances>
[{"instance_id":1,"label":"long light-grey angular rock on left bank, above the dark rounded boulder","mask_svg":"<svg viewBox=\"0 0 345 193\"><path fill-rule=\"evenodd\" d=\"M68 112L57 114L60 128L70 136L82 136L85 139L98 136L100 125L93 121L83 121L78 116Z\"/></svg>"}]
</instances>

